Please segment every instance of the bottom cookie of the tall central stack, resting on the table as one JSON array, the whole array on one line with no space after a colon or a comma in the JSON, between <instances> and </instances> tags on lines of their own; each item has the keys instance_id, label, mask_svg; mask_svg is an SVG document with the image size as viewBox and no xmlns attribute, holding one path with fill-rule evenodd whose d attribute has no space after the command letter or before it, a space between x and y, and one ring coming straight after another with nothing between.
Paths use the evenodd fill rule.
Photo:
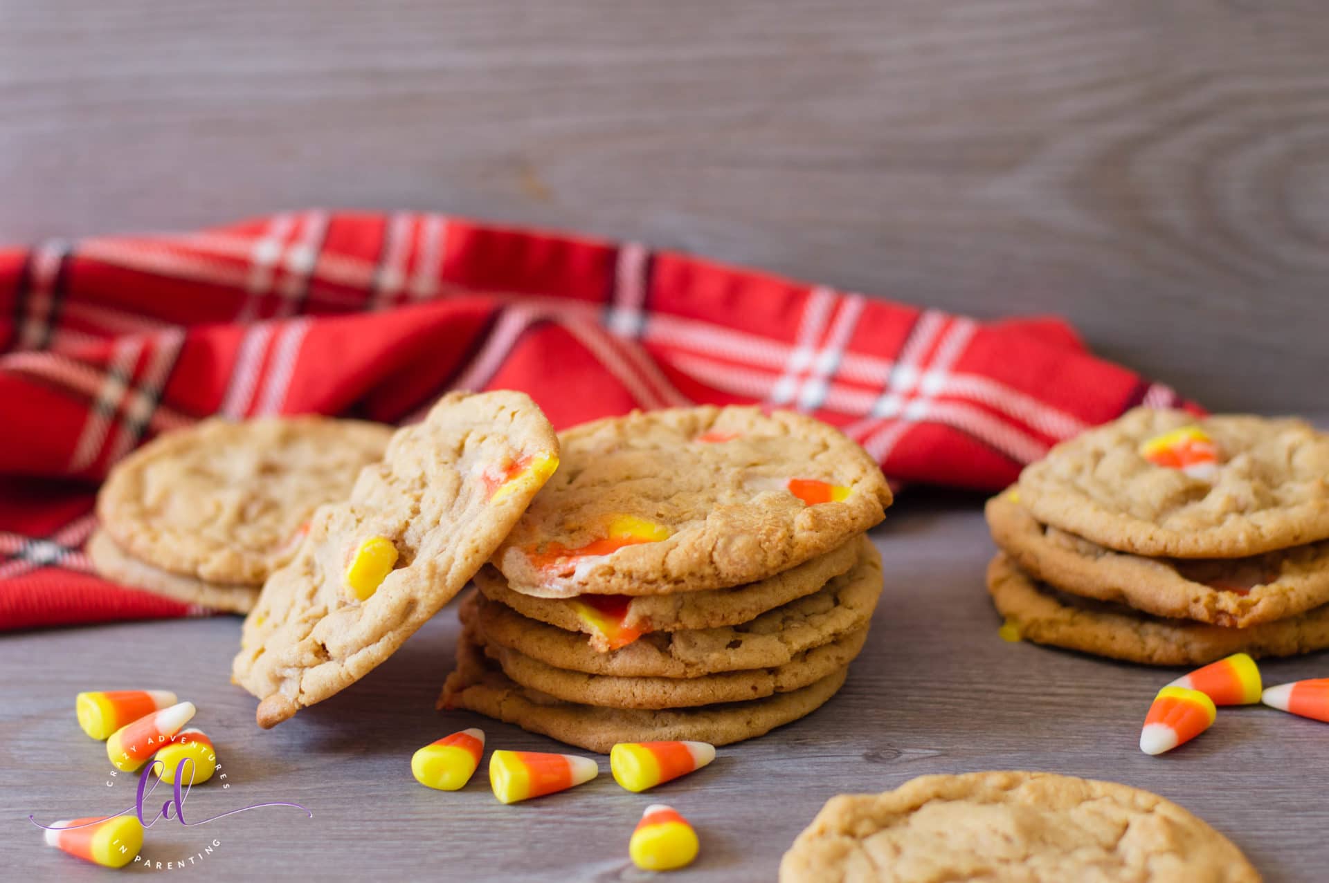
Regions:
<instances>
[{"instance_id":1,"label":"bottom cookie of the tall central stack, resting on the table","mask_svg":"<svg viewBox=\"0 0 1329 883\"><path fill-rule=\"evenodd\" d=\"M764 736L811 714L844 685L848 669L792 693L724 705L666 712L595 708L561 702L509 680L466 636L457 643L457 669L448 676L437 708L462 708L560 742L609 754L617 742L691 740L730 745Z\"/></svg>"}]
</instances>

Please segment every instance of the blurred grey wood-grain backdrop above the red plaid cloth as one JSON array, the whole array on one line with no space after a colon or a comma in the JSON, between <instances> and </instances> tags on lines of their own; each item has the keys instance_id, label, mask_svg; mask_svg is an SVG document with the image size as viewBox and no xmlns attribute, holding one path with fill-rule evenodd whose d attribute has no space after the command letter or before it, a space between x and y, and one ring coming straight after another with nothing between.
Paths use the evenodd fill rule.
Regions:
<instances>
[{"instance_id":1,"label":"blurred grey wood-grain backdrop above the red plaid cloth","mask_svg":"<svg viewBox=\"0 0 1329 883\"><path fill-rule=\"evenodd\" d=\"M0 0L0 238L437 210L1065 313L1305 410L1326 56L1316 0Z\"/></svg>"}]
</instances>

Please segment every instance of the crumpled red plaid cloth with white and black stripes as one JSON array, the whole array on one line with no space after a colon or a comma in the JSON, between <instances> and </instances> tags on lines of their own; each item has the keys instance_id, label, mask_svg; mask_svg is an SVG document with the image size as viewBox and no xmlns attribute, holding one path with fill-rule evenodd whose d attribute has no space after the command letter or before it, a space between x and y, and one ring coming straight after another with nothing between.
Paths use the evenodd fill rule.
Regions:
<instances>
[{"instance_id":1,"label":"crumpled red plaid cloth with white and black stripes","mask_svg":"<svg viewBox=\"0 0 1329 883\"><path fill-rule=\"evenodd\" d=\"M999 489L1167 386L1059 320L978 323L627 243L440 215L306 211L0 250L0 628L202 611L80 551L97 482L209 414L409 421L521 389L556 426L762 402L835 424L896 481Z\"/></svg>"}]
</instances>

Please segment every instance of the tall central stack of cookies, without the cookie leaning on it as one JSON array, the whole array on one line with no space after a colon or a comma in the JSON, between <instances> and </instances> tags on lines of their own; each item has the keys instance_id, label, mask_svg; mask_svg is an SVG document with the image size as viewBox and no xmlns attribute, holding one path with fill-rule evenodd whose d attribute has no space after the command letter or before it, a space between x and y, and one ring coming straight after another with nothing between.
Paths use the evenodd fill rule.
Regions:
<instances>
[{"instance_id":1,"label":"tall central stack of cookies, without the cookie leaning on it","mask_svg":"<svg viewBox=\"0 0 1329 883\"><path fill-rule=\"evenodd\" d=\"M441 708L595 752L727 744L825 702L863 648L890 503L816 420L755 408L567 430L562 465L461 605Z\"/></svg>"}]
</instances>

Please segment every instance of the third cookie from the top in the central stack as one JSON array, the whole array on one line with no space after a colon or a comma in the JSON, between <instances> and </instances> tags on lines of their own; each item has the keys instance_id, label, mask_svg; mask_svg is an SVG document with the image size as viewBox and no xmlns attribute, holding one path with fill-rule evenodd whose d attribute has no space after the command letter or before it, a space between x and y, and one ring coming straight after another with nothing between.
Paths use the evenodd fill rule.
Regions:
<instances>
[{"instance_id":1,"label":"third cookie from the top in the central stack","mask_svg":"<svg viewBox=\"0 0 1329 883\"><path fill-rule=\"evenodd\" d=\"M654 632L602 653L579 632L522 616L473 594L462 621L489 645L505 647L554 668L611 677L702 677L788 665L807 651L867 628L881 596L881 558L869 543L853 570L821 591L767 611L740 625ZM560 603L560 602L546 602Z\"/></svg>"}]
</instances>

